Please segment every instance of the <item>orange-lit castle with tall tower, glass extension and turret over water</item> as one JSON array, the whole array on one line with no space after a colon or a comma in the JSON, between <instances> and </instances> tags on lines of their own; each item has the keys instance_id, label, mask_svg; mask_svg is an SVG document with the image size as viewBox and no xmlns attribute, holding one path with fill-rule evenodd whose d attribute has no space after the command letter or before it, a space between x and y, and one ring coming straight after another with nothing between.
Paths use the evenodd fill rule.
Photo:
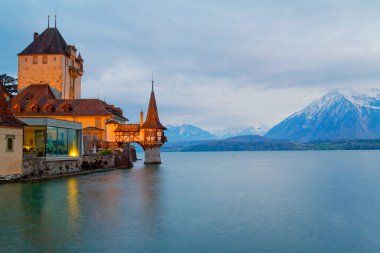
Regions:
<instances>
[{"instance_id":1,"label":"orange-lit castle with tall tower, glass extension and turret over water","mask_svg":"<svg viewBox=\"0 0 380 253\"><path fill-rule=\"evenodd\" d=\"M167 141L166 128L158 118L153 83L146 121L142 118L136 128L126 124L121 108L100 99L81 98L83 74L84 59L56 26L34 33L33 41L18 54L18 94L11 100L11 110L29 125L24 127L24 153L30 157L80 156L136 142L145 150L146 163L160 163L159 147Z\"/></svg>"}]
</instances>

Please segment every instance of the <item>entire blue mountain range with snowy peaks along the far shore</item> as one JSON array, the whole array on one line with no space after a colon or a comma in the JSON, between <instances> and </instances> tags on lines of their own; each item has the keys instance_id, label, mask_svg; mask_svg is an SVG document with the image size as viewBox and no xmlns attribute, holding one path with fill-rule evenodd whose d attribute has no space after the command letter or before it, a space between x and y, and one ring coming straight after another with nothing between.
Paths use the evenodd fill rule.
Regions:
<instances>
[{"instance_id":1,"label":"entire blue mountain range with snowy peaks along the far shore","mask_svg":"<svg viewBox=\"0 0 380 253\"><path fill-rule=\"evenodd\" d=\"M269 131L257 126L209 132L183 124L168 125L166 135L166 151L376 149L380 90L333 90Z\"/></svg>"}]
</instances>

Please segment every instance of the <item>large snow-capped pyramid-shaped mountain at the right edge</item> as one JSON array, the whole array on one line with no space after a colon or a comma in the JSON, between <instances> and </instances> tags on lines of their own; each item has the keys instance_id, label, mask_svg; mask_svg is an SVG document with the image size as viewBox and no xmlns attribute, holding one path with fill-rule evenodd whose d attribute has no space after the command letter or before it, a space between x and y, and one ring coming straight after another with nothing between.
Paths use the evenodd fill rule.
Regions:
<instances>
[{"instance_id":1,"label":"large snow-capped pyramid-shaped mountain at the right edge","mask_svg":"<svg viewBox=\"0 0 380 253\"><path fill-rule=\"evenodd\" d=\"M380 90L334 90L265 135L299 141L380 138Z\"/></svg>"}]
</instances>

